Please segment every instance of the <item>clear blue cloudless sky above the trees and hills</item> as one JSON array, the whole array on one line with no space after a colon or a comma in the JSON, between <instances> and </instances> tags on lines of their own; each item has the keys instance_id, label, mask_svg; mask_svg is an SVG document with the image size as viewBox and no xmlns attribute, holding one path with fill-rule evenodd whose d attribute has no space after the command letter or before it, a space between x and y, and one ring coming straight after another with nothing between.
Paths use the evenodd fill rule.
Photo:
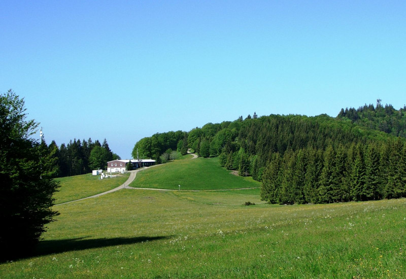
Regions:
<instances>
[{"instance_id":1,"label":"clear blue cloudless sky above the trees and hills","mask_svg":"<svg viewBox=\"0 0 406 279\"><path fill-rule=\"evenodd\" d=\"M0 92L49 144L406 103L406 1L0 2Z\"/></svg>"}]
</instances>

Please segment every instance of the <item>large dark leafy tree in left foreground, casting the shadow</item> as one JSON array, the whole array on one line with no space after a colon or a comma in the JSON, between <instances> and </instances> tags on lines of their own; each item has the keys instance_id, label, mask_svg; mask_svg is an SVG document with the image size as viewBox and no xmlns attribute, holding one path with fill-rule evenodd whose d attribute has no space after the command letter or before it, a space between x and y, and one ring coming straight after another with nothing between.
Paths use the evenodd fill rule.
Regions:
<instances>
[{"instance_id":1,"label":"large dark leafy tree in left foreground, casting the shadow","mask_svg":"<svg viewBox=\"0 0 406 279\"><path fill-rule=\"evenodd\" d=\"M0 95L1 260L28 254L58 215L52 210L56 158L32 139L38 124L25 111L12 90Z\"/></svg>"}]
</instances>

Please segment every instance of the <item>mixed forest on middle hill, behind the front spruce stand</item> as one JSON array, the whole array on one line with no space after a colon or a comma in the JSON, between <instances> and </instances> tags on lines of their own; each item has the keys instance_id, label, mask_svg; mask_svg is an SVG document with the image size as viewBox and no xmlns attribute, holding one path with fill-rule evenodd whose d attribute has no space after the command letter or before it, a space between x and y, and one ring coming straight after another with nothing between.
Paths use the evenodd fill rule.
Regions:
<instances>
[{"instance_id":1,"label":"mixed forest on middle hill, behind the front spruce stand","mask_svg":"<svg viewBox=\"0 0 406 279\"><path fill-rule=\"evenodd\" d=\"M190 148L202 157L220 156L220 164L239 170L261 180L261 173L273 153L298 150L305 147L325 149L338 143L365 143L367 138L386 138L378 131L359 127L346 121L337 121L327 115L307 117L299 115L270 115L257 117L256 113L244 120L208 123L189 132L157 133L145 137L133 148L140 158L159 157L171 150L182 154Z\"/></svg>"}]
</instances>

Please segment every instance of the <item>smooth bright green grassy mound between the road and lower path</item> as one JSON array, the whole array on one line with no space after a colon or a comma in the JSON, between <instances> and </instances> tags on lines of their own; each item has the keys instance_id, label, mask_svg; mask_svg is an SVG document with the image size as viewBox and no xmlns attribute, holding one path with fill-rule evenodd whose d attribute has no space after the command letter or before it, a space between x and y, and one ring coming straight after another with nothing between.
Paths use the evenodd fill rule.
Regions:
<instances>
[{"instance_id":1,"label":"smooth bright green grassy mound between the road and lower path","mask_svg":"<svg viewBox=\"0 0 406 279\"><path fill-rule=\"evenodd\" d=\"M132 187L154 189L211 190L260 187L252 178L229 175L230 171L221 167L218 158L197 158L177 160L143 170Z\"/></svg>"}]
</instances>

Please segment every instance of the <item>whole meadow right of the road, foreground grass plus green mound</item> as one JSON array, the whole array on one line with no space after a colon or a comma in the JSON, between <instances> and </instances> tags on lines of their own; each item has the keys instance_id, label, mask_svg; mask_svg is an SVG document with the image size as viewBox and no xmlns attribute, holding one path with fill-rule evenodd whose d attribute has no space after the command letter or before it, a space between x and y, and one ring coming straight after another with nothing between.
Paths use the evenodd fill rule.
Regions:
<instances>
[{"instance_id":1,"label":"whole meadow right of the road, foreground grass plus green mound","mask_svg":"<svg viewBox=\"0 0 406 279\"><path fill-rule=\"evenodd\" d=\"M406 277L406 199L270 205L257 182L217 166L175 161L131 185L181 191L122 189L56 205L36 254L1 263L0 277ZM57 194L68 193L61 185Z\"/></svg>"}]
</instances>

